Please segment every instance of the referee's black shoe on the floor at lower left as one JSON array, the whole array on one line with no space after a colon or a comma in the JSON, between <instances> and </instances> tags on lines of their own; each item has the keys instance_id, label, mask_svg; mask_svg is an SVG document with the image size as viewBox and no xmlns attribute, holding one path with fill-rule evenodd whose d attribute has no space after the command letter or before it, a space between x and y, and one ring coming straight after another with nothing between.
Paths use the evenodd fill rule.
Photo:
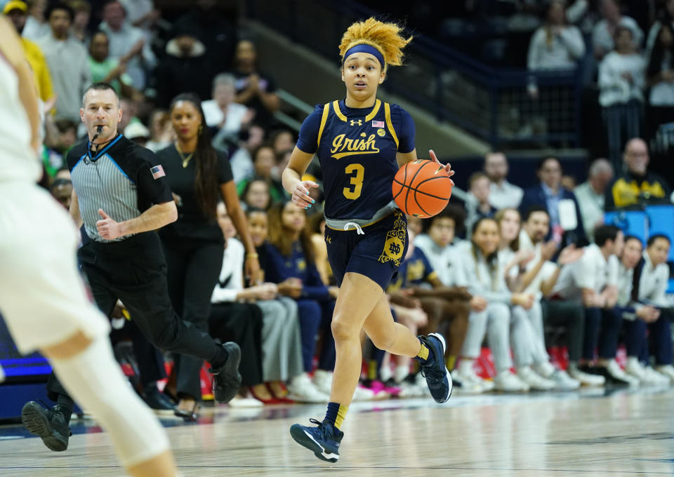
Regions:
<instances>
[{"instance_id":1,"label":"referee's black shoe on the floor at lower left","mask_svg":"<svg viewBox=\"0 0 674 477\"><path fill-rule=\"evenodd\" d=\"M68 448L72 432L59 405L45 409L35 401L28 401L21 410L21 422L30 434L40 437L51 450L62 452Z\"/></svg>"}]
</instances>

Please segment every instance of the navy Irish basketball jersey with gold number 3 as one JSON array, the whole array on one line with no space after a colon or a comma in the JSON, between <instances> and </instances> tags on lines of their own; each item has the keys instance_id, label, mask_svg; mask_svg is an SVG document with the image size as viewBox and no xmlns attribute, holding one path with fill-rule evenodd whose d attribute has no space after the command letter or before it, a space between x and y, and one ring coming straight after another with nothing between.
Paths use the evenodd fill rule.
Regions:
<instances>
[{"instance_id":1,"label":"navy Irish basketball jersey with gold number 3","mask_svg":"<svg viewBox=\"0 0 674 477\"><path fill-rule=\"evenodd\" d=\"M325 216L367 220L393 199L395 155L414 150L414 122L404 109L381 100L371 108L333 101L305 119L297 146L318 155Z\"/></svg>"}]
</instances>

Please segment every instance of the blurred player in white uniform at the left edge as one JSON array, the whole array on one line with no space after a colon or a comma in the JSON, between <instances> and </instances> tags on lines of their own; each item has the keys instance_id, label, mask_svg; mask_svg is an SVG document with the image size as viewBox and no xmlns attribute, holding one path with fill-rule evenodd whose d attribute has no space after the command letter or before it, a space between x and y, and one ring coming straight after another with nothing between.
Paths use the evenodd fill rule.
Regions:
<instances>
[{"instance_id":1,"label":"blurred player in white uniform at the left edge","mask_svg":"<svg viewBox=\"0 0 674 477\"><path fill-rule=\"evenodd\" d=\"M35 185L40 121L32 73L0 17L0 309L22 353L39 349L110 432L132 476L176 476L169 440L114 361L107 320L87 300L77 229Z\"/></svg>"}]
</instances>

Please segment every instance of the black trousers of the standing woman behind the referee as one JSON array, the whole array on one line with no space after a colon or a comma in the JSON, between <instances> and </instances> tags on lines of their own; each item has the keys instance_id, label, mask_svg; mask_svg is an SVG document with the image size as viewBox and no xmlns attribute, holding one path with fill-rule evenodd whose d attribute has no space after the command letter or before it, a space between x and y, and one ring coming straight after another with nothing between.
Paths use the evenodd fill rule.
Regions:
<instances>
[{"instance_id":1,"label":"black trousers of the standing woman behind the referee","mask_svg":"<svg viewBox=\"0 0 674 477\"><path fill-rule=\"evenodd\" d=\"M168 266L169 297L173 309L194 328L208 332L211 296L223 267L225 246L218 241L166 240L162 238ZM176 355L176 392L197 401L201 398L199 370L204 360Z\"/></svg>"}]
</instances>

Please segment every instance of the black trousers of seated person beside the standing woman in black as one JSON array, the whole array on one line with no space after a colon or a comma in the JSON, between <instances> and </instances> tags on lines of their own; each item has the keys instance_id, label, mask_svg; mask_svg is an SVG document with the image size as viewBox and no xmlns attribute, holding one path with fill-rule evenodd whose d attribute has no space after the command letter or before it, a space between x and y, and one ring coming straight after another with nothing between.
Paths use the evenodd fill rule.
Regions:
<instances>
[{"instance_id":1,"label":"black trousers of seated person beside the standing woman in black","mask_svg":"<svg viewBox=\"0 0 674 477\"><path fill-rule=\"evenodd\" d=\"M253 303L216 303L211 306L211 335L223 342L233 341L241 347L239 372L243 386L263 382L262 319L262 310Z\"/></svg>"}]
</instances>

